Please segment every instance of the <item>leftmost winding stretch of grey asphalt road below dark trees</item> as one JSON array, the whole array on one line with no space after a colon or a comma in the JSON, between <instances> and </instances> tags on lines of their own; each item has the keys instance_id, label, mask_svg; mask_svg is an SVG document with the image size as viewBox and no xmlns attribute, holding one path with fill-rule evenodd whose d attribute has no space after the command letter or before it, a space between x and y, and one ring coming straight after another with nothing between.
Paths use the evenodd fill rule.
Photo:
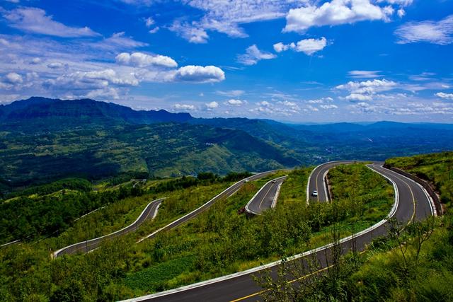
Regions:
<instances>
[{"instance_id":1,"label":"leftmost winding stretch of grey asphalt road below dark trees","mask_svg":"<svg viewBox=\"0 0 453 302\"><path fill-rule=\"evenodd\" d=\"M82 241L80 243L69 245L66 248L57 250L57 252L54 252L52 254L52 256L56 258L56 257L62 256L62 255L76 254L78 252L89 252L90 250L94 250L94 249L98 248L98 246L104 240L116 238L118 236L122 236L127 233L130 233L131 231L135 231L144 221L146 221L147 219L153 219L156 216L157 210L159 209L159 205L163 201L164 201L164 198L156 199L156 200L150 202L147 205L147 207L142 211L142 214L140 214L139 218L137 218L137 220L134 221L134 223L130 224L129 226L126 226L125 228L122 228L120 231L116 231L114 233L110 233L106 236L102 236L99 238L94 238L91 240L86 240L86 241Z\"/></svg>"}]
</instances>

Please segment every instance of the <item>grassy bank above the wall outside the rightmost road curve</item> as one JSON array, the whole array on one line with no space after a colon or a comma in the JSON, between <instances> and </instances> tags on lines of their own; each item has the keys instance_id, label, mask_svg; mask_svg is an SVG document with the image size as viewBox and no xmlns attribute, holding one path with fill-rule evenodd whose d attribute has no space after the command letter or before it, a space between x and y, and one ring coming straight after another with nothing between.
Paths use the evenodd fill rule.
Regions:
<instances>
[{"instance_id":1,"label":"grassy bank above the wall outside the rightmost road curve","mask_svg":"<svg viewBox=\"0 0 453 302\"><path fill-rule=\"evenodd\" d=\"M451 204L453 200L453 152L389 158L385 163L428 180L440 192L441 202Z\"/></svg>"}]
</instances>

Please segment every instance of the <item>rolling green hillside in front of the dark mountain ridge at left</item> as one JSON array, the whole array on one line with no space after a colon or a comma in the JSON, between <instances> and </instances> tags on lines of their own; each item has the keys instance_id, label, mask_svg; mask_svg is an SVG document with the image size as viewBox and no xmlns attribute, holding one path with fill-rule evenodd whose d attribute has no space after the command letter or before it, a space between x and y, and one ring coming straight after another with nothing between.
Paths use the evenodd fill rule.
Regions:
<instances>
[{"instance_id":1,"label":"rolling green hillside in front of the dark mountain ridge at left","mask_svg":"<svg viewBox=\"0 0 453 302\"><path fill-rule=\"evenodd\" d=\"M0 140L6 146L0 148L1 178L16 185L67 175L98 179L135 171L168 177L298 163L245 132L203 125L117 126L36 135L0 132Z\"/></svg>"}]
</instances>

